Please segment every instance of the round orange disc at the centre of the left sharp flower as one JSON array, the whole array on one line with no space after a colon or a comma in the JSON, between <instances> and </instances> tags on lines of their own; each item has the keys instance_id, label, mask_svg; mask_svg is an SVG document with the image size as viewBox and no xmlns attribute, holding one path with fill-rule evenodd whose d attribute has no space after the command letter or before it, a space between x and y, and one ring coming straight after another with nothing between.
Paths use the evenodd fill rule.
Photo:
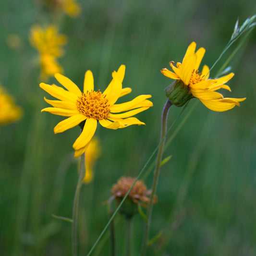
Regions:
<instances>
[{"instance_id":1,"label":"round orange disc at the centre of the left sharp flower","mask_svg":"<svg viewBox=\"0 0 256 256\"><path fill-rule=\"evenodd\" d=\"M88 118L94 118L96 120L107 119L110 112L110 105L106 95L98 90L87 91L82 93L81 97L78 97L76 105L81 114Z\"/></svg>"}]
</instances>

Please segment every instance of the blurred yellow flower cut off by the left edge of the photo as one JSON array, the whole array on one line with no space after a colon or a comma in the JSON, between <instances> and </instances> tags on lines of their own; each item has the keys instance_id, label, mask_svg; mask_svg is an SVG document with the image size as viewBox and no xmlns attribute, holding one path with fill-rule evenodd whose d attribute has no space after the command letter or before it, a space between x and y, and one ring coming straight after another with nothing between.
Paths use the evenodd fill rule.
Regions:
<instances>
[{"instance_id":1,"label":"blurred yellow flower cut off by the left edge of the photo","mask_svg":"<svg viewBox=\"0 0 256 256\"><path fill-rule=\"evenodd\" d=\"M0 125L14 122L21 116L21 108L14 104L13 98L0 85Z\"/></svg>"}]
</instances>

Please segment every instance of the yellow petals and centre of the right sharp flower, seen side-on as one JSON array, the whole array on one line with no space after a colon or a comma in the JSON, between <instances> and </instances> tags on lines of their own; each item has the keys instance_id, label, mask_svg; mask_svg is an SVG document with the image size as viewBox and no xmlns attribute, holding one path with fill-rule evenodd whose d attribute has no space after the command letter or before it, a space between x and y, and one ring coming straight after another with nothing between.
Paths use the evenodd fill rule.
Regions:
<instances>
[{"instance_id":1,"label":"yellow petals and centre of the right sharp flower, seen side-on","mask_svg":"<svg viewBox=\"0 0 256 256\"><path fill-rule=\"evenodd\" d=\"M191 98L198 98L210 110L221 112L230 110L234 106L240 106L239 102L246 98L224 98L222 94L216 92L220 88L231 91L230 87L225 83L233 77L234 73L218 79L209 79L207 65L203 66L201 73L198 71L205 49L201 47L195 52L195 47L195 42L189 45L182 63L177 62L175 66L174 61L170 62L174 73L166 68L162 69L161 73L171 79L175 79L176 85L182 82L182 86L188 89L188 94L191 95ZM168 94L168 90L166 90L166 94Z\"/></svg>"}]
</instances>

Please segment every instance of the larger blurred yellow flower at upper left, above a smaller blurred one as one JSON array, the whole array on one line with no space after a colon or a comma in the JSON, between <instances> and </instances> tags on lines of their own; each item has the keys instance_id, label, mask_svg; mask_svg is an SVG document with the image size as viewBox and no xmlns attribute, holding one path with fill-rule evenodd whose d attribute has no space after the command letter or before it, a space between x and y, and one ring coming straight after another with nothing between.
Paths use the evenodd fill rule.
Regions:
<instances>
[{"instance_id":1,"label":"larger blurred yellow flower at upper left, above a smaller blurred one","mask_svg":"<svg viewBox=\"0 0 256 256\"><path fill-rule=\"evenodd\" d=\"M67 37L59 35L59 30L54 25L46 28L34 25L31 28L30 42L41 55L48 54L53 57L61 57L64 54L62 46L67 43Z\"/></svg>"}]
</instances>

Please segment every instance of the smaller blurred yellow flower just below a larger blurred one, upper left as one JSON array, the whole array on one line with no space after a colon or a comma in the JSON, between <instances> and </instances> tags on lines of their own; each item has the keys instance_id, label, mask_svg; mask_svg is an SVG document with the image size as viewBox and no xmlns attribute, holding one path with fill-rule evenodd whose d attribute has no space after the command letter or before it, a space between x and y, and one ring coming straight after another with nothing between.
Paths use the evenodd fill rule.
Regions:
<instances>
[{"instance_id":1,"label":"smaller blurred yellow flower just below a larger blurred one, upper left","mask_svg":"<svg viewBox=\"0 0 256 256\"><path fill-rule=\"evenodd\" d=\"M61 65L56 58L50 54L40 55L41 75L40 79L47 80L49 76L56 73L63 73Z\"/></svg>"}]
</instances>

